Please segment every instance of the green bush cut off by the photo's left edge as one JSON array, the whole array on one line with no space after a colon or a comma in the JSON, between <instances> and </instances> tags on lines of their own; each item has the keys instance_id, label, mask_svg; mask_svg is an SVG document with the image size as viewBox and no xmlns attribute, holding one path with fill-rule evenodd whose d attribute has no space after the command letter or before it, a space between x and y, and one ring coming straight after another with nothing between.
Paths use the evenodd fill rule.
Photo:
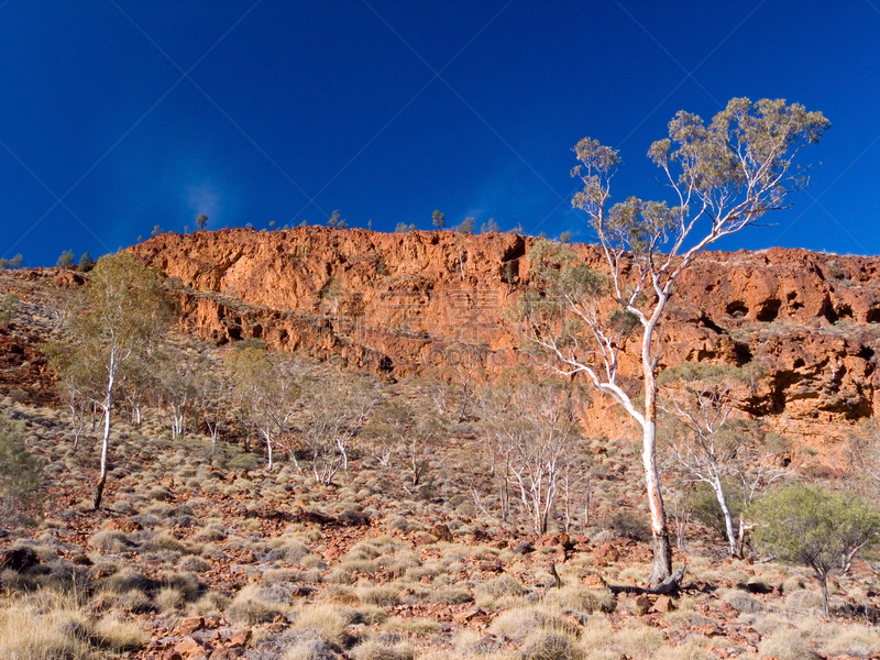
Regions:
<instances>
[{"instance_id":1,"label":"green bush cut off by the photo's left edge","mask_svg":"<svg viewBox=\"0 0 880 660\"><path fill-rule=\"evenodd\" d=\"M24 424L0 417L0 514L26 519L43 502L45 461L24 447Z\"/></svg>"}]
</instances>

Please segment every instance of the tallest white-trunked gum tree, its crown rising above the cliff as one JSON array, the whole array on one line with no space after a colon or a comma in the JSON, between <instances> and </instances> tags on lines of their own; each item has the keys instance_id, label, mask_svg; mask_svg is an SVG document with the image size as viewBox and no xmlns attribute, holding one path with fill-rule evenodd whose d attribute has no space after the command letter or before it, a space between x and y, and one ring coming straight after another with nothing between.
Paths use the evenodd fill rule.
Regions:
<instances>
[{"instance_id":1,"label":"tallest white-trunked gum tree, its crown rising above the cliff","mask_svg":"<svg viewBox=\"0 0 880 660\"><path fill-rule=\"evenodd\" d=\"M828 127L821 112L784 100L733 99L708 125L680 111L669 122L669 138L648 151L662 172L671 205L637 197L612 205L617 151L590 138L574 146L580 165L572 176L584 187L572 204L586 213L598 238L605 273L558 253L564 258L546 264L553 268L546 270L543 297L526 299L522 311L530 318L531 338L553 356L557 371L585 374L641 428L652 582L672 572L657 468L658 324L679 276L701 251L790 206L789 196L807 185L794 158ZM619 374L629 330L636 332L640 363L638 397L622 385Z\"/></svg>"}]
</instances>

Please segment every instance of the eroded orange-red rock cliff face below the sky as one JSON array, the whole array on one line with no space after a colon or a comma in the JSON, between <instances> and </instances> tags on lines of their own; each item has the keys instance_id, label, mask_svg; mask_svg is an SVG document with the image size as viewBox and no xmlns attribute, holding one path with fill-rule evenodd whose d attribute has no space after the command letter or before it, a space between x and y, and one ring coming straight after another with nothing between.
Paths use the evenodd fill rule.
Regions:
<instances>
[{"instance_id":1,"label":"eroded orange-red rock cliff face below the sky","mask_svg":"<svg viewBox=\"0 0 880 660\"><path fill-rule=\"evenodd\" d=\"M528 284L532 243L310 227L163 234L132 251L175 278L185 322L207 337L258 337L408 375L460 360L495 371L525 360L506 312ZM602 267L595 249L574 249ZM758 361L765 376L751 413L780 430L839 437L880 413L879 270L880 258L802 250L704 253L661 324L662 363ZM637 367L636 354L623 360L625 374Z\"/></svg>"}]
</instances>

